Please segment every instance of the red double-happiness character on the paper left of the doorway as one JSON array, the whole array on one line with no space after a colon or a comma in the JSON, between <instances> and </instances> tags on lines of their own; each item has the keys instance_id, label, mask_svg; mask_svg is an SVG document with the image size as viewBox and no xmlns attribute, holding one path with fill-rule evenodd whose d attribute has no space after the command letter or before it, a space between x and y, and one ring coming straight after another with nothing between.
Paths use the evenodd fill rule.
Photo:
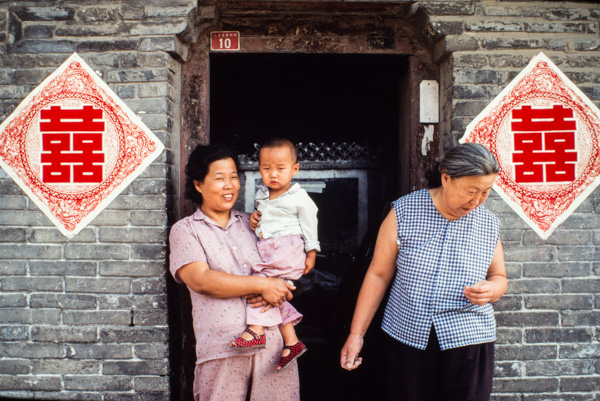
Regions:
<instances>
[{"instance_id":1,"label":"red double-happiness character on the paper left of the doorway","mask_svg":"<svg viewBox=\"0 0 600 401\"><path fill-rule=\"evenodd\" d=\"M104 122L94 121L102 118L102 110L92 106L64 110L52 106L50 110L42 110L40 116L42 120L50 120L40 122L42 181L102 182Z\"/></svg>"}]
</instances>

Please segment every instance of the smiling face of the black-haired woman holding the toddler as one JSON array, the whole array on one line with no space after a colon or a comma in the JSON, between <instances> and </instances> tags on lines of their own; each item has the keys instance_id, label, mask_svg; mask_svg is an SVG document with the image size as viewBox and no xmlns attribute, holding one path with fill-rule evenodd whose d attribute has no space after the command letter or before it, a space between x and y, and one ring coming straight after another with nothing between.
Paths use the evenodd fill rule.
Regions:
<instances>
[{"instance_id":1,"label":"smiling face of the black-haired woman holding the toddler","mask_svg":"<svg viewBox=\"0 0 600 401\"><path fill-rule=\"evenodd\" d=\"M240 180L235 162L230 158L212 162L204 181L194 180L194 186L202 194L203 211L230 211L240 194Z\"/></svg>"}]
</instances>

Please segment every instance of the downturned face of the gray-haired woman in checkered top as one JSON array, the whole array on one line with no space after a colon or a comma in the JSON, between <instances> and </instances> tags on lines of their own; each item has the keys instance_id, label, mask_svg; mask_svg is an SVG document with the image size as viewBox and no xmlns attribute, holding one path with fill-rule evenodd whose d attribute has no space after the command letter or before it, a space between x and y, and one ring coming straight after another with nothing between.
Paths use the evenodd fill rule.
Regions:
<instances>
[{"instance_id":1,"label":"downturned face of the gray-haired woman in checkered top","mask_svg":"<svg viewBox=\"0 0 600 401\"><path fill-rule=\"evenodd\" d=\"M452 178L442 174L444 211L455 218L469 214L490 196L496 174Z\"/></svg>"}]
</instances>

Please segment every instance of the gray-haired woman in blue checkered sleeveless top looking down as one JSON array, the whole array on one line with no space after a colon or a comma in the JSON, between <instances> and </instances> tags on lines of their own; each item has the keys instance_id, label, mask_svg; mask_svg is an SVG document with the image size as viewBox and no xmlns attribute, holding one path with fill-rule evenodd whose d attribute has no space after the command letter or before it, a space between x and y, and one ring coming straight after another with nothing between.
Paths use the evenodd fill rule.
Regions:
<instances>
[{"instance_id":1,"label":"gray-haired woman in blue checkered sleeveless top looking down","mask_svg":"<svg viewBox=\"0 0 600 401\"><path fill-rule=\"evenodd\" d=\"M507 287L498 219L482 204L498 163L484 146L451 149L430 188L393 203L381 224L341 365L355 369L390 283L382 328L390 341L390 400L484 401L492 387L491 303Z\"/></svg>"}]
</instances>

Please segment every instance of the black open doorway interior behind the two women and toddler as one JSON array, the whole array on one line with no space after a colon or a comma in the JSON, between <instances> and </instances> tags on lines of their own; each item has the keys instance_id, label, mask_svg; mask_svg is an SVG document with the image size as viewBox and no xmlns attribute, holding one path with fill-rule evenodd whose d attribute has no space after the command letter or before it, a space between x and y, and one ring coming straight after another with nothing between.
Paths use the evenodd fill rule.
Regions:
<instances>
[{"instance_id":1,"label":"black open doorway interior behind the two women and toddler","mask_svg":"<svg viewBox=\"0 0 600 401\"><path fill-rule=\"evenodd\" d=\"M370 261L379 223L399 182L400 88L408 59L398 55L211 54L210 138L241 153L272 136L295 143L355 142L368 149L368 227L348 246L323 246L315 273L302 278L292 304L304 314L297 326L309 352L299 360L302 399L383 399L385 335L376 319L354 372L339 366L356 296ZM304 168L304 167L302 167ZM331 166L332 170L340 168ZM253 194L250 194L252 196ZM322 244L337 244L340 230L357 224L351 179L311 194L319 206ZM327 249L329 248L329 249Z\"/></svg>"}]
</instances>

